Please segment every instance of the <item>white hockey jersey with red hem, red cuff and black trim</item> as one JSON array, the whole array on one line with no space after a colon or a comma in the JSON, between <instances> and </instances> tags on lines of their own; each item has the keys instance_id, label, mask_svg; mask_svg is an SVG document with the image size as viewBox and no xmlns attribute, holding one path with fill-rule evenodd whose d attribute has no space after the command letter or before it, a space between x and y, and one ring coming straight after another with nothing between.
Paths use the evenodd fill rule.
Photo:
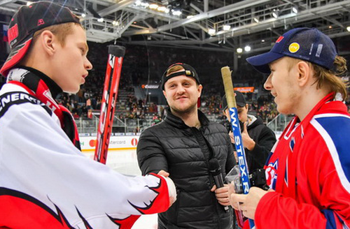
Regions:
<instances>
[{"instance_id":1,"label":"white hockey jersey with red hem, red cuff and black trim","mask_svg":"<svg viewBox=\"0 0 350 229\"><path fill-rule=\"evenodd\" d=\"M126 177L85 157L40 102L1 112L20 91L0 91L0 228L131 228L141 214L168 209L170 179Z\"/></svg>"}]
</instances>

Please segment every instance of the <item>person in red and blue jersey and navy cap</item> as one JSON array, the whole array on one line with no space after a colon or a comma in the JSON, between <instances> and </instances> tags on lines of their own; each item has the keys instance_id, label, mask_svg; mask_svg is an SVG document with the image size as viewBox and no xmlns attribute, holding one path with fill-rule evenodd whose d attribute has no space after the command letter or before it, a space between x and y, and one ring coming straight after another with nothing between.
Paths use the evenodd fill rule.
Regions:
<instances>
[{"instance_id":1,"label":"person in red and blue jersey and navy cap","mask_svg":"<svg viewBox=\"0 0 350 229\"><path fill-rule=\"evenodd\" d=\"M295 114L265 165L269 191L230 189L230 203L264 228L350 227L350 116L343 101L346 60L317 29L291 29L248 63L277 110ZM248 228L248 222L244 225Z\"/></svg>"}]
</instances>

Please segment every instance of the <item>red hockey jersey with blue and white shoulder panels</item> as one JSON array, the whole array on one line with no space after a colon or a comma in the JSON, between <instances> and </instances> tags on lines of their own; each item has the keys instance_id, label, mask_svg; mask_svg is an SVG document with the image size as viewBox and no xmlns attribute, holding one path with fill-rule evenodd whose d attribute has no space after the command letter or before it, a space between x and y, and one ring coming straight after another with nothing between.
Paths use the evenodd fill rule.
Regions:
<instances>
[{"instance_id":1,"label":"red hockey jersey with blue and white shoulder panels","mask_svg":"<svg viewBox=\"0 0 350 229\"><path fill-rule=\"evenodd\" d=\"M325 96L302 121L295 117L270 154L256 228L349 228L350 116Z\"/></svg>"}]
</instances>

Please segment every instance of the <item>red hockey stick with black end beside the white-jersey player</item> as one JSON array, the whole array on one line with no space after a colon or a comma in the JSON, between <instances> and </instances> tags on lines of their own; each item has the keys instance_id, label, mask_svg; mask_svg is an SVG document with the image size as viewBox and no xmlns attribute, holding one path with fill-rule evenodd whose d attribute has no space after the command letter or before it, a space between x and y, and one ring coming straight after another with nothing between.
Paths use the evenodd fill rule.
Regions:
<instances>
[{"instance_id":1,"label":"red hockey stick with black end beside the white-jersey player","mask_svg":"<svg viewBox=\"0 0 350 229\"><path fill-rule=\"evenodd\" d=\"M111 137L114 112L116 111L120 72L122 71L124 54L125 47L109 45L109 60L106 68L97 142L94 150L94 161L104 164L106 164L109 138Z\"/></svg>"}]
</instances>

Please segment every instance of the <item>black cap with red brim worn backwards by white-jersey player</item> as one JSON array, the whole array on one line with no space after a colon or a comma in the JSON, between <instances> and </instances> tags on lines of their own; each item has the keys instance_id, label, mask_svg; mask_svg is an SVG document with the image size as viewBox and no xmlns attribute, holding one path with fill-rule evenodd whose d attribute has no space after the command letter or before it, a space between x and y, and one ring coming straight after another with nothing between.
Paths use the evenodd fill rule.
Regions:
<instances>
[{"instance_id":1,"label":"black cap with red brim worn backwards by white-jersey player","mask_svg":"<svg viewBox=\"0 0 350 229\"><path fill-rule=\"evenodd\" d=\"M10 68L20 62L29 50L34 33L54 24L79 23L79 18L69 8L49 1L38 1L21 8L13 15L8 26L10 54L0 69L7 76Z\"/></svg>"}]
</instances>

